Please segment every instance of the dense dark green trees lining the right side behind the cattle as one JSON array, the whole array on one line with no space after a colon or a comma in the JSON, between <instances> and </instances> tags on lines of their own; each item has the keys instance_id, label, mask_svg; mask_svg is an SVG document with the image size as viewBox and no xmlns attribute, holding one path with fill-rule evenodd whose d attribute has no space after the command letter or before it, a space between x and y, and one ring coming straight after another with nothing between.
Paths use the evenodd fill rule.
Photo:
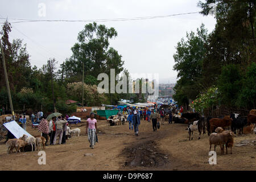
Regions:
<instances>
[{"instance_id":1,"label":"dense dark green trees lining the right side behind the cattle","mask_svg":"<svg viewBox=\"0 0 256 182\"><path fill-rule=\"evenodd\" d=\"M255 109L255 1L207 0L198 5L203 15L212 14L215 6L217 23L209 35L197 30L196 36L191 32L186 41L177 43L174 69L179 80L174 99L179 105L188 105L216 85L215 105ZM210 107L202 101L195 105L195 101L192 106L196 110Z\"/></svg>"}]
</instances>

